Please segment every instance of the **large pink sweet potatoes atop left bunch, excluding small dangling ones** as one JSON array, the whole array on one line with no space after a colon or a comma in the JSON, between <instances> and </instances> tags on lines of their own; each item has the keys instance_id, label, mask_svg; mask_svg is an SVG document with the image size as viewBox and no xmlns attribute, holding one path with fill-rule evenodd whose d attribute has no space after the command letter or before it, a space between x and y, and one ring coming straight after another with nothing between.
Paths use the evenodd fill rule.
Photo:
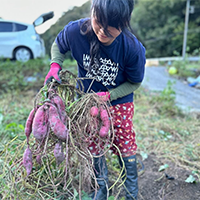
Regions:
<instances>
[{"instance_id":1,"label":"large pink sweet potatoes atop left bunch, excluding small dangling ones","mask_svg":"<svg viewBox=\"0 0 200 200\"><path fill-rule=\"evenodd\" d=\"M42 141L50 128L58 139L65 141L68 135L66 120L65 104L58 94L53 94L50 101L30 112L25 126L27 140L32 132L38 141Z\"/></svg>"}]
</instances>

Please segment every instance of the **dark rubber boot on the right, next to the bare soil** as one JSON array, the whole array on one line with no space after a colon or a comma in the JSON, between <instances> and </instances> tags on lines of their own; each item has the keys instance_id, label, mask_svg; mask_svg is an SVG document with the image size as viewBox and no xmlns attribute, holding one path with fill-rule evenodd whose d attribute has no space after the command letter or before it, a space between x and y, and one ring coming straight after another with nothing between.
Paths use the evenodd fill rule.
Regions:
<instances>
[{"instance_id":1,"label":"dark rubber boot on the right, next to the bare soil","mask_svg":"<svg viewBox=\"0 0 200 200\"><path fill-rule=\"evenodd\" d=\"M126 176L122 179L125 180L126 200L137 200L138 194L138 173L136 156L123 157L123 161L126 168ZM122 167L122 160L119 157L119 163ZM125 171L123 171L124 175Z\"/></svg>"}]
</instances>

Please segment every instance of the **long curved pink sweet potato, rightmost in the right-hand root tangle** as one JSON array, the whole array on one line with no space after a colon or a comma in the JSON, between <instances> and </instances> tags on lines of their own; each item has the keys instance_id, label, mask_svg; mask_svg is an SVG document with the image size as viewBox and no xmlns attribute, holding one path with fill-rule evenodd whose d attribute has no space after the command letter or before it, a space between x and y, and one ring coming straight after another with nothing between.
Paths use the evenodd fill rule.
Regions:
<instances>
[{"instance_id":1,"label":"long curved pink sweet potato, rightmost in the right-hand root tangle","mask_svg":"<svg viewBox=\"0 0 200 200\"><path fill-rule=\"evenodd\" d=\"M107 110L102 107L100 108L100 118L102 121L102 126L100 128L99 135L101 137L106 137L110 129L110 120Z\"/></svg>"}]
</instances>

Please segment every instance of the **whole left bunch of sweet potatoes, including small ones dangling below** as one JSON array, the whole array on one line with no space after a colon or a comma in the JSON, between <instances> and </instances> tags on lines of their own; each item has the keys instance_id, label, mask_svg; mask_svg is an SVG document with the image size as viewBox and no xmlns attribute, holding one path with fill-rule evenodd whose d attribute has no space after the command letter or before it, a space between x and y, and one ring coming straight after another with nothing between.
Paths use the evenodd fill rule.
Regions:
<instances>
[{"instance_id":1,"label":"whole left bunch of sweet potatoes, including small ones dangling below","mask_svg":"<svg viewBox=\"0 0 200 200\"><path fill-rule=\"evenodd\" d=\"M32 152L29 148L29 137L31 133L36 141L40 144L44 143L45 138L50 132L59 141L55 145L54 156L57 165L59 165L65 158L62 151L62 141L68 138L67 114L65 112L65 104L62 98L56 93L51 92L48 96L48 101L42 105L36 106L29 114L25 126L25 134L27 137L28 148L24 152L23 165L26 168L27 175L32 170ZM41 163L41 158L37 155L37 162Z\"/></svg>"}]
</instances>

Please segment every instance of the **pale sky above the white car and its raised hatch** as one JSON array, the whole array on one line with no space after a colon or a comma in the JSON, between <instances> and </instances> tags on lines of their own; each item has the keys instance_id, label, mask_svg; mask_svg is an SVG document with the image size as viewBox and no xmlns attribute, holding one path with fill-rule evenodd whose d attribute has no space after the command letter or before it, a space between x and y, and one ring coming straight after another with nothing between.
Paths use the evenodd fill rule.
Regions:
<instances>
[{"instance_id":1,"label":"pale sky above the white car and its raised hatch","mask_svg":"<svg viewBox=\"0 0 200 200\"><path fill-rule=\"evenodd\" d=\"M43 13L54 11L54 17L36 27L36 31L44 33L54 24L63 12L74 6L81 6L88 0L0 0L0 17L32 24Z\"/></svg>"}]
</instances>

